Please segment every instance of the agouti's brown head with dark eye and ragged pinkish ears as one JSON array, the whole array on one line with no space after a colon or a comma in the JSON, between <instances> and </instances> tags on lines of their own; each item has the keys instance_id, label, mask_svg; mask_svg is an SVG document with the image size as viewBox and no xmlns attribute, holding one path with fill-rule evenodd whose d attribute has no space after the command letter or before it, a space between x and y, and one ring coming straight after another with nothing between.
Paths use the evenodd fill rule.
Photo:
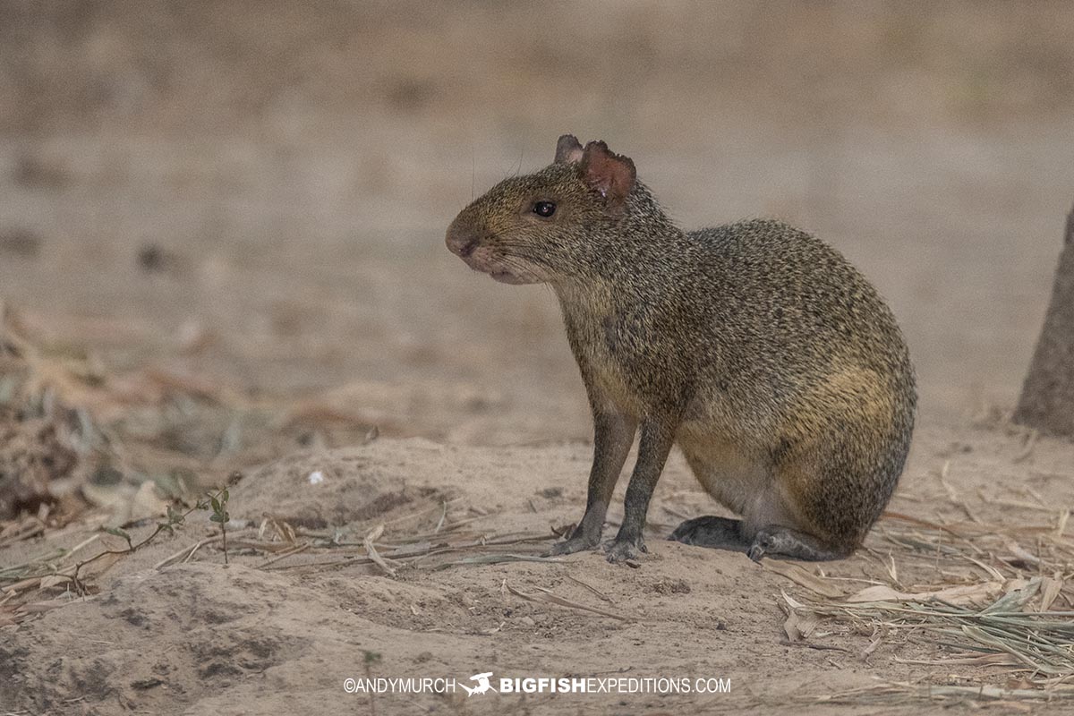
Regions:
<instances>
[{"instance_id":1,"label":"agouti's brown head with dark eye and ragged pinkish ears","mask_svg":"<svg viewBox=\"0 0 1074 716\"><path fill-rule=\"evenodd\" d=\"M565 134L551 165L505 179L464 208L448 228L447 245L504 283L581 277L607 255L618 227L634 214L651 216L650 202L629 158L604 142L583 148Z\"/></svg>"}]
</instances>

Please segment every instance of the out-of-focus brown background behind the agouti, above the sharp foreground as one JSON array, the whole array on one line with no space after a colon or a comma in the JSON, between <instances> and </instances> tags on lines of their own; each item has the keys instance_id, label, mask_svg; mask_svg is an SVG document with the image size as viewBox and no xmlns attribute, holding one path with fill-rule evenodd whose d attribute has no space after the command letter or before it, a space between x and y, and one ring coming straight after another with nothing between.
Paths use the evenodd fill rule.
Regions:
<instances>
[{"instance_id":1,"label":"out-of-focus brown background behind the agouti, above the sharp foreground","mask_svg":"<svg viewBox=\"0 0 1074 716\"><path fill-rule=\"evenodd\" d=\"M551 292L442 244L562 133L684 227L836 245L926 419L1013 406L1074 201L1065 0L0 0L0 298L42 351L468 443L590 435Z\"/></svg>"}]
</instances>

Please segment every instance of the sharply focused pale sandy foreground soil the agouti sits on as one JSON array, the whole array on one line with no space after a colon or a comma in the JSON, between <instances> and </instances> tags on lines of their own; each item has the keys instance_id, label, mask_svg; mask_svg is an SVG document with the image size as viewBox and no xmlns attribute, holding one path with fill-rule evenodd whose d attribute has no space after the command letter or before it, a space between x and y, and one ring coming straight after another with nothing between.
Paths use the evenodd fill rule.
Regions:
<instances>
[{"instance_id":1,"label":"sharply focused pale sandy foreground soil the agouti sits on","mask_svg":"<svg viewBox=\"0 0 1074 716\"><path fill-rule=\"evenodd\" d=\"M967 513L986 525L1047 525L1053 506L1070 505L1066 470L1074 448L1043 440L1030 458L1016 463L1021 445L1020 438L996 429L926 424L891 512L957 529L970 523ZM712 511L679 461L650 511L651 554L634 569L594 553L536 564L466 562L477 555L535 556L546 550L554 539L551 529L580 514L587 459L587 447L578 443L467 448L412 438L297 453L255 469L231 489L232 524L246 528L230 538L228 566L216 543L186 564L155 567L216 534L202 515L102 571L92 580L92 596L58 597L45 602L40 618L5 627L4 705L16 713L365 713L366 695L345 693L346 678L442 676L473 684L471 673L492 671L496 678L720 677L730 680L731 690L466 698L458 689L446 696L381 695L380 713L691 707L789 714L804 706L816 713L902 713L898 701L816 701L850 695L843 698L853 704L854 689L877 680L1006 683L1002 669L914 663L938 655L912 631L877 633L866 623L826 620L808 640L788 642L783 595L817 597L780 573L789 562L758 566L744 555L663 540L681 515ZM318 471L323 481L310 484ZM273 545L271 527L268 538L258 534L266 517L336 545L279 558L287 543ZM386 574L354 546L378 525L384 525L380 552L417 540L412 549L425 554L393 560L394 574ZM888 565L908 591L981 580L982 570L970 562L889 539L899 526L899 517L889 517L853 558L804 567L825 575L834 596L891 584ZM137 539L149 528L131 531ZM73 545L93 534L68 528L49 543ZM481 540L488 544L474 546ZM121 546L111 536L102 542ZM442 546L451 544L469 546ZM442 551L430 550L437 545ZM4 551L5 561L41 549L19 543ZM1032 566L1024 573L1033 574ZM608 616L517 595L540 597L546 589ZM379 655L369 672L367 652ZM903 707L919 712L921 703Z\"/></svg>"}]
</instances>

